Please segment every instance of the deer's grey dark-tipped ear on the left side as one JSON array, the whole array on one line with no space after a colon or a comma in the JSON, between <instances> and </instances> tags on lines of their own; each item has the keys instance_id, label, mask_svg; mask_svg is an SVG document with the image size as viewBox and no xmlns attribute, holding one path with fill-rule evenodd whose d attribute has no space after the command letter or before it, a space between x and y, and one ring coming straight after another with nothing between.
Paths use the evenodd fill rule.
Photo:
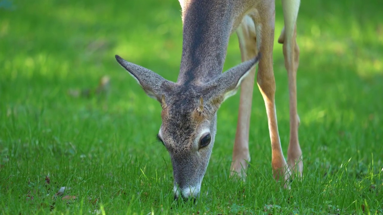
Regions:
<instances>
[{"instance_id":1,"label":"deer's grey dark-tipped ear on the left side","mask_svg":"<svg viewBox=\"0 0 383 215\"><path fill-rule=\"evenodd\" d=\"M161 102L162 94L165 94L164 91L167 86L172 84L171 81L166 80L145 67L132 64L118 55L115 57L117 62L124 67L134 79L136 79L148 96Z\"/></svg>"}]
</instances>

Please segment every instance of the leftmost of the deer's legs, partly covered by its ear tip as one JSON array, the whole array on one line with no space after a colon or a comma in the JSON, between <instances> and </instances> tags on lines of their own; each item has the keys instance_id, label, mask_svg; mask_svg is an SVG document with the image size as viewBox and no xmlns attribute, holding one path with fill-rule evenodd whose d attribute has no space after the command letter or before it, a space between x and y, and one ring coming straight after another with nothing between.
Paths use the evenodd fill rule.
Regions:
<instances>
[{"instance_id":1,"label":"leftmost of the deer's legs, partly covered by its ear tip","mask_svg":"<svg viewBox=\"0 0 383 215\"><path fill-rule=\"evenodd\" d=\"M242 23L237 28L236 33L239 41L239 48L241 50L242 62L257 56L258 51L255 25L252 18L245 16ZM250 162L249 126L255 70L256 69L254 68L241 83L237 131L230 168L231 176L239 176L243 180L246 178L247 162Z\"/></svg>"}]
</instances>

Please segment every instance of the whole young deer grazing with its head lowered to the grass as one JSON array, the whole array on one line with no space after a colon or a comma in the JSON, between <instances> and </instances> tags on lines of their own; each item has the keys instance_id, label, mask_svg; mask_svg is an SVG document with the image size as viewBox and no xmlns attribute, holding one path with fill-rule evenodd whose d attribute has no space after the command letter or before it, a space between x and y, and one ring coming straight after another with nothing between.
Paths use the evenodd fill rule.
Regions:
<instances>
[{"instance_id":1,"label":"whole young deer grazing with its head lowered to the grass","mask_svg":"<svg viewBox=\"0 0 383 215\"><path fill-rule=\"evenodd\" d=\"M274 0L179 0L182 7L183 46L177 82L116 55L118 63L162 106L158 133L169 151L175 198L198 197L216 135L217 111L241 85L237 132L231 170L245 177L249 155L249 124L255 65L257 84L264 98L272 148L273 177L286 182L291 173L302 175L298 143L296 70L299 48L296 19L300 0L282 0L285 26L283 44L290 92L290 143L283 156L275 111L273 72ZM242 63L222 73L229 36L236 31ZM262 57L260 57L262 53ZM285 184L285 187L289 186Z\"/></svg>"}]
</instances>

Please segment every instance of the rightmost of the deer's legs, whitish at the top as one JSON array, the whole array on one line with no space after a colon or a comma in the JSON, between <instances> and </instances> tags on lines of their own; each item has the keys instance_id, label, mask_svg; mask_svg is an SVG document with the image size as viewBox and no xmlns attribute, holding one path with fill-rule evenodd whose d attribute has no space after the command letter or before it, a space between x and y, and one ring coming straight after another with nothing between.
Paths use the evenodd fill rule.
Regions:
<instances>
[{"instance_id":1,"label":"rightmost of the deer's legs, whitish at the top","mask_svg":"<svg viewBox=\"0 0 383 215\"><path fill-rule=\"evenodd\" d=\"M296 18L300 0L282 0L285 27L278 39L283 44L285 67L288 73L288 88L290 95L290 143L287 151L287 163L291 171L302 176L302 151L298 141L298 126L300 119L297 111L296 70L299 64L299 47L296 44Z\"/></svg>"}]
</instances>

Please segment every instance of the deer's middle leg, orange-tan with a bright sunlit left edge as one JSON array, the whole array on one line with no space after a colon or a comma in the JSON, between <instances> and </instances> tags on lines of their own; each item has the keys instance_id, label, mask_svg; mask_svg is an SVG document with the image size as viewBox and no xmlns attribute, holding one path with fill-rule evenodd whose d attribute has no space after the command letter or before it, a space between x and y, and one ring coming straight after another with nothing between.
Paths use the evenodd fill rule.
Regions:
<instances>
[{"instance_id":1,"label":"deer's middle leg, orange-tan with a bright sunlit left edge","mask_svg":"<svg viewBox=\"0 0 383 215\"><path fill-rule=\"evenodd\" d=\"M275 5L264 5L262 15L254 16L257 33L257 46L262 58L259 61L257 84L265 102L268 129L271 139L272 169L276 181L284 182L284 187L290 178L290 170L283 156L281 142L278 134L277 112L275 108L275 78L273 71L273 45L275 25Z\"/></svg>"}]
</instances>

